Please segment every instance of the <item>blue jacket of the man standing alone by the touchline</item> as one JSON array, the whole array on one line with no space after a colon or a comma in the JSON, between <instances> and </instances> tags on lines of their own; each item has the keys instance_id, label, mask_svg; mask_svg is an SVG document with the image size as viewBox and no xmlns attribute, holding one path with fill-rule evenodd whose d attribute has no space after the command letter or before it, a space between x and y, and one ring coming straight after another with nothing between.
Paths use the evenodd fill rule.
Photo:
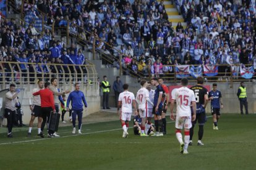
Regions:
<instances>
[{"instance_id":1,"label":"blue jacket of the man standing alone by the touchline","mask_svg":"<svg viewBox=\"0 0 256 170\"><path fill-rule=\"evenodd\" d=\"M83 103L87 107L85 95L82 91L72 91L67 98L67 108L69 108L69 102L72 101L72 110L83 110ZM83 103L82 103L83 101Z\"/></svg>"}]
</instances>

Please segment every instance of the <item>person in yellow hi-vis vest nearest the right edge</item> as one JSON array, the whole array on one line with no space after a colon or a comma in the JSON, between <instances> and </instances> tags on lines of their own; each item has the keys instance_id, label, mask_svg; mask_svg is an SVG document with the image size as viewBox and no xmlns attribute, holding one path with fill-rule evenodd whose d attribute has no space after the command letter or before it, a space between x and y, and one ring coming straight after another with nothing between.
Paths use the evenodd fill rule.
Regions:
<instances>
[{"instance_id":1,"label":"person in yellow hi-vis vest nearest the right edge","mask_svg":"<svg viewBox=\"0 0 256 170\"><path fill-rule=\"evenodd\" d=\"M244 87L244 81L242 81L241 86L238 88L237 97L240 102L240 110L241 115L244 115L243 106L245 107L245 114L248 115L248 103L247 103L247 95L246 95L246 87Z\"/></svg>"}]
</instances>

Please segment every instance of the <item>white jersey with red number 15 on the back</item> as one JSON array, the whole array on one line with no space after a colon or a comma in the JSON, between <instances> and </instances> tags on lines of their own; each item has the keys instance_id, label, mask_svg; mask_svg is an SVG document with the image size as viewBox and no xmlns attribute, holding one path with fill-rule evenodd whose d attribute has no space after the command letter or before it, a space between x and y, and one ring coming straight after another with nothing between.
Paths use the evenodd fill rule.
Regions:
<instances>
[{"instance_id":1,"label":"white jersey with red number 15 on the back","mask_svg":"<svg viewBox=\"0 0 256 170\"><path fill-rule=\"evenodd\" d=\"M190 104L195 102L195 94L187 87L176 89L173 100L177 103L177 116L191 116Z\"/></svg>"}]
</instances>

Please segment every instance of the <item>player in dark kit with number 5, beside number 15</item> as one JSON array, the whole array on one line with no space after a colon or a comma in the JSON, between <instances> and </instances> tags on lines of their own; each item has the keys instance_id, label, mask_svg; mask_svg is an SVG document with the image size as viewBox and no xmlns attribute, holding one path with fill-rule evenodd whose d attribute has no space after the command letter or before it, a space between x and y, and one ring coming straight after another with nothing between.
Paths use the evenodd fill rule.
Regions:
<instances>
[{"instance_id":1,"label":"player in dark kit with number 5, beside number 15","mask_svg":"<svg viewBox=\"0 0 256 170\"><path fill-rule=\"evenodd\" d=\"M198 142L197 145L203 145L202 138L203 138L203 125L205 124L205 108L207 107L208 103L208 92L205 87L203 87L203 77L197 78L197 85L192 86L190 88L195 93L195 100L197 103L197 116L195 121L192 122L192 127L190 128L190 140L189 145L192 145L192 137L194 134L194 127L198 121Z\"/></svg>"}]
</instances>

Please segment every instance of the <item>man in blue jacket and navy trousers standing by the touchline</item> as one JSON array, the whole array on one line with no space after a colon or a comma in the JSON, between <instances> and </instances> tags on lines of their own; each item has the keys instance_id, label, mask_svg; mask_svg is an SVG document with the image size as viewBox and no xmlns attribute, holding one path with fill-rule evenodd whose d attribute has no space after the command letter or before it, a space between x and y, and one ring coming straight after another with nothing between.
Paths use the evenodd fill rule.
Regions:
<instances>
[{"instance_id":1,"label":"man in blue jacket and navy trousers standing by the touchline","mask_svg":"<svg viewBox=\"0 0 256 170\"><path fill-rule=\"evenodd\" d=\"M87 107L87 102L85 100L85 95L80 91L80 84L75 83L75 91L70 92L69 97L67 98L67 111L69 111L69 102L72 102L72 123L73 131L72 134L75 134L75 120L78 117L79 120L79 134L81 133L82 127L82 115L83 115L83 104ZM83 103L82 103L83 102Z\"/></svg>"}]
</instances>

